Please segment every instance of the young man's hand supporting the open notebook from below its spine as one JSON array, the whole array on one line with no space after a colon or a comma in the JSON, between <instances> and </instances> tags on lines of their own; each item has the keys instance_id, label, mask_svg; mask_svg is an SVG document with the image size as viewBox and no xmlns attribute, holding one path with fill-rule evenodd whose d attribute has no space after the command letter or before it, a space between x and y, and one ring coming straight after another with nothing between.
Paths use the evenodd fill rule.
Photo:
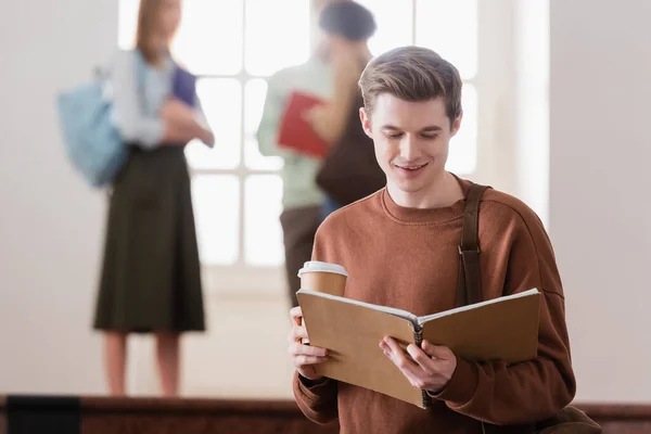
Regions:
<instances>
[{"instance_id":1,"label":"young man's hand supporting the open notebook from below its spine","mask_svg":"<svg viewBox=\"0 0 651 434\"><path fill-rule=\"evenodd\" d=\"M432 345L427 341L423 341L422 349L413 344L407 347L411 359L388 336L380 343L380 348L403 371L411 385L433 393L443 391L457 369L457 357L450 348Z\"/></svg>"}]
</instances>

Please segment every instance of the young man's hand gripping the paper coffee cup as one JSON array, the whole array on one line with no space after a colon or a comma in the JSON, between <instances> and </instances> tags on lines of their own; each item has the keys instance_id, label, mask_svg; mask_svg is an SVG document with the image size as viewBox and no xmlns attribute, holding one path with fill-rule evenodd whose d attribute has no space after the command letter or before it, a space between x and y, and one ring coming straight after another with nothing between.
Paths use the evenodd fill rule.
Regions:
<instances>
[{"instance_id":1,"label":"young man's hand gripping the paper coffee cup","mask_svg":"<svg viewBox=\"0 0 651 434\"><path fill-rule=\"evenodd\" d=\"M318 381L322 376L315 372L315 365L328 360L327 350L316 346L304 345L308 342L307 329L303 326L303 311L301 307L294 307L290 310L292 317L292 331L288 337L290 342L289 353L292 355L292 361L298 373L308 380Z\"/></svg>"}]
</instances>

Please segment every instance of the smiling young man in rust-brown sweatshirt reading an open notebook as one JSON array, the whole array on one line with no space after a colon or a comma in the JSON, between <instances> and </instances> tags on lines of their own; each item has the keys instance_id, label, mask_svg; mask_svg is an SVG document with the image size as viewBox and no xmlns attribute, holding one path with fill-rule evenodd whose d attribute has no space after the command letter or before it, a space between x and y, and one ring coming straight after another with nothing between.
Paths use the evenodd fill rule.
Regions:
<instances>
[{"instance_id":1,"label":"smiling young man in rust-brown sweatshirt reading an open notebook","mask_svg":"<svg viewBox=\"0 0 651 434\"><path fill-rule=\"evenodd\" d=\"M472 184L445 170L461 126L461 79L431 50L408 47L371 61L360 79L366 132L387 187L332 214L314 259L350 272L346 297L427 315L455 307L465 194ZM516 365L472 362L424 342L405 352L386 337L384 355L416 387L422 410L388 396L320 378L327 349L302 345L301 308L292 309L294 395L317 422L339 418L342 433L531 433L574 397L564 298L547 233L524 203L488 189L480 205L483 298L537 288L542 293L538 357Z\"/></svg>"}]
</instances>

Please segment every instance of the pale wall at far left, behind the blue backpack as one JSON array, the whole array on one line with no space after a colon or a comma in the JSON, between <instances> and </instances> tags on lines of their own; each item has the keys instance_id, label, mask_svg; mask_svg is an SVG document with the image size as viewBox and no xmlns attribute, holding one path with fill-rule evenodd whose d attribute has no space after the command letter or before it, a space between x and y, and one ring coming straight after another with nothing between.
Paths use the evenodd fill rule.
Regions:
<instances>
[{"instance_id":1,"label":"pale wall at far left, behind the blue backpack","mask_svg":"<svg viewBox=\"0 0 651 434\"><path fill-rule=\"evenodd\" d=\"M115 47L114 0L5 1L0 15L0 393L99 393L91 332L104 201L71 171L58 90Z\"/></svg>"}]
</instances>

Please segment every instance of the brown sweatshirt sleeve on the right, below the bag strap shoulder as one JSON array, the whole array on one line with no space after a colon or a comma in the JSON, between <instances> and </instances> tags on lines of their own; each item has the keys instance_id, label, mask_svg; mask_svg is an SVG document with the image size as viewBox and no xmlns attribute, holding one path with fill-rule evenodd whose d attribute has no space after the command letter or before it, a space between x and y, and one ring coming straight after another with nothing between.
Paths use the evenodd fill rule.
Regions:
<instances>
[{"instance_id":1,"label":"brown sweatshirt sleeve on the right, below the bag strap shoulder","mask_svg":"<svg viewBox=\"0 0 651 434\"><path fill-rule=\"evenodd\" d=\"M510 233L505 294L541 292L538 357L507 365L458 359L447 387L431 394L462 414L497 425L532 423L552 417L574 398L561 279L551 243L538 217L522 204Z\"/></svg>"}]
</instances>

